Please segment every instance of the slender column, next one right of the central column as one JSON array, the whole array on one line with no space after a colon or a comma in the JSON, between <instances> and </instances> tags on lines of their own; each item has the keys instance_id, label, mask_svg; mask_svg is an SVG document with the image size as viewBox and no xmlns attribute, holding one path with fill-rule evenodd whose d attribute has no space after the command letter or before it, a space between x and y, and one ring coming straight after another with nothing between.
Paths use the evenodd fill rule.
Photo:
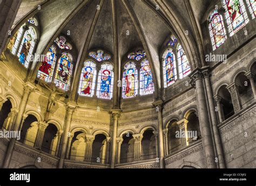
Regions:
<instances>
[{"instance_id":1,"label":"slender column, next one right of the central column","mask_svg":"<svg viewBox=\"0 0 256 186\"><path fill-rule=\"evenodd\" d=\"M156 106L156 111L158 115L158 153L160 168L164 168L164 136L163 136L163 117L162 117L162 104L163 101L159 100L153 103Z\"/></svg>"}]
</instances>

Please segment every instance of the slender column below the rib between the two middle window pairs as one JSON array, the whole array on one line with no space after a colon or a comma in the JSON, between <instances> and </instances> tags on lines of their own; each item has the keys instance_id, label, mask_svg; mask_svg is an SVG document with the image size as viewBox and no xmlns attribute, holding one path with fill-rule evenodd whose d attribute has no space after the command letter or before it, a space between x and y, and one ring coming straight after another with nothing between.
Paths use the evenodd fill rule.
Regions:
<instances>
[{"instance_id":1,"label":"slender column below the rib between the two middle window pairs","mask_svg":"<svg viewBox=\"0 0 256 186\"><path fill-rule=\"evenodd\" d=\"M114 168L114 163L116 162L116 152L117 152L117 124L118 117L120 116L120 110L111 110L113 117L113 134L111 143L111 164L110 168Z\"/></svg>"}]
</instances>

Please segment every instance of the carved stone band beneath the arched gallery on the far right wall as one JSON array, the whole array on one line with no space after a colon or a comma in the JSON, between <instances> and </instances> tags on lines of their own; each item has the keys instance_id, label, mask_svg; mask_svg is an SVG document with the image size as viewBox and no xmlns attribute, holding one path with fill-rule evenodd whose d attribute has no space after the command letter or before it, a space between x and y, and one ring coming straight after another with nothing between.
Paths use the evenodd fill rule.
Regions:
<instances>
[{"instance_id":1,"label":"carved stone band beneath the arched gallery on the far right wall","mask_svg":"<svg viewBox=\"0 0 256 186\"><path fill-rule=\"evenodd\" d=\"M256 106L254 106L254 108L252 108L251 110L248 110L244 114L240 115L238 118L234 119L233 121L231 121L227 125L225 125L223 127L220 127L220 133L227 132L228 130L230 130L234 126L236 126L238 124L241 124L247 118L250 118L250 117L254 116L255 113L256 113Z\"/></svg>"}]
</instances>

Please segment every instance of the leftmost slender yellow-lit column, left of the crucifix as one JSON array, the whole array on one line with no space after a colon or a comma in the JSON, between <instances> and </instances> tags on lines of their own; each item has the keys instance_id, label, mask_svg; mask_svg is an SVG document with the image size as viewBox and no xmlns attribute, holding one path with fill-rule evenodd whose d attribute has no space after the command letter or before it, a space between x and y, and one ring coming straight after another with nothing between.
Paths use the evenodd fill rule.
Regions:
<instances>
[{"instance_id":1,"label":"leftmost slender yellow-lit column, left of the crucifix","mask_svg":"<svg viewBox=\"0 0 256 186\"><path fill-rule=\"evenodd\" d=\"M24 114L24 111L26 108L26 103L28 102L29 95L35 88L36 88L35 85L33 85L29 82L26 82L24 84L23 96L21 99L21 103L19 104L19 111L17 113L16 121L14 123L14 126L12 127L12 130L14 130L14 131L19 130L19 126L21 125L22 117L23 117L23 114ZM8 146L8 149L7 149L7 152L5 155L4 163L3 163L3 168L9 167L11 155L12 155L12 152L13 152L14 146L15 146L15 141L16 141L16 138L12 138L9 143L9 146Z\"/></svg>"}]
</instances>

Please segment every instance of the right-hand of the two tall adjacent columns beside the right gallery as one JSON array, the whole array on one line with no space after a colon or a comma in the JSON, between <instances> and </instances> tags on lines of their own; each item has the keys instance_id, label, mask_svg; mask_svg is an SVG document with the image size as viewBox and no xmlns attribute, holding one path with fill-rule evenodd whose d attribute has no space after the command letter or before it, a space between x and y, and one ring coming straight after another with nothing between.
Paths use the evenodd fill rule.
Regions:
<instances>
[{"instance_id":1,"label":"right-hand of the two tall adjacent columns beside the right gallery","mask_svg":"<svg viewBox=\"0 0 256 186\"><path fill-rule=\"evenodd\" d=\"M203 71L203 74L204 74L204 78L205 78L207 98L208 98L208 104L209 104L209 109L210 109L210 116L211 116L211 120L212 120L213 137L214 137L215 147L216 147L216 151L217 151L217 155L218 155L218 164L219 164L219 168L225 168L223 148L222 148L222 143L221 143L221 139L220 139L219 128L217 126L218 121L217 121L217 116L216 116L215 109L214 109L215 105L214 105L213 96L212 96L210 73L208 71L208 68L206 68L206 70ZM219 107L220 107L220 105L219 105ZM219 113L219 110L218 110L218 113ZM220 113L223 113L223 109L221 109ZM223 114L223 116L224 116L224 114Z\"/></svg>"}]
</instances>

